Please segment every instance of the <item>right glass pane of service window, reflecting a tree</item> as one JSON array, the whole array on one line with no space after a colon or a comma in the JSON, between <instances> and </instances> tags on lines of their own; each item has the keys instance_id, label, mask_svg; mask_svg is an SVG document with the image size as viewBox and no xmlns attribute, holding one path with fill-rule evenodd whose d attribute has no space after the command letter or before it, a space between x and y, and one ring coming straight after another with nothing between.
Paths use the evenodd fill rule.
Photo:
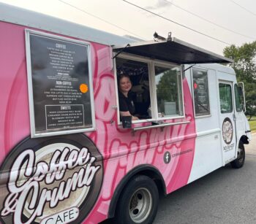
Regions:
<instances>
[{"instance_id":1,"label":"right glass pane of service window, reflecting a tree","mask_svg":"<svg viewBox=\"0 0 256 224\"><path fill-rule=\"evenodd\" d=\"M183 115L181 70L177 66L154 66L157 88L157 116L177 117Z\"/></svg>"}]
</instances>

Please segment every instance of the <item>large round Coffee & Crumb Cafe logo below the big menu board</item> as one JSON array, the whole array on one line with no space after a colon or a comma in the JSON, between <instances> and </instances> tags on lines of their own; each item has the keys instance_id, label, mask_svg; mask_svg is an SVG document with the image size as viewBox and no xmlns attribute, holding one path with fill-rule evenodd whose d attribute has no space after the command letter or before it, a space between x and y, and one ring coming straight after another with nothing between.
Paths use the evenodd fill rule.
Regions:
<instances>
[{"instance_id":1,"label":"large round Coffee & Crumb Cafe logo below the big menu board","mask_svg":"<svg viewBox=\"0 0 256 224\"><path fill-rule=\"evenodd\" d=\"M3 223L81 223L102 186L102 155L83 134L27 139L0 169Z\"/></svg>"}]
</instances>

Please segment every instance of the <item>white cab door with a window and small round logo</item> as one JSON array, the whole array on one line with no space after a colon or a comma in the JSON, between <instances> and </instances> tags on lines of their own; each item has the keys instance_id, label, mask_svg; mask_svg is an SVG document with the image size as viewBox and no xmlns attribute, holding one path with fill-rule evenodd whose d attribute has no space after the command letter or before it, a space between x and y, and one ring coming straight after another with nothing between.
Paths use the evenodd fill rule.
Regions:
<instances>
[{"instance_id":1,"label":"white cab door with a window and small round logo","mask_svg":"<svg viewBox=\"0 0 256 224\"><path fill-rule=\"evenodd\" d=\"M220 128L225 164L236 157L236 116L233 83L219 81Z\"/></svg>"}]
</instances>

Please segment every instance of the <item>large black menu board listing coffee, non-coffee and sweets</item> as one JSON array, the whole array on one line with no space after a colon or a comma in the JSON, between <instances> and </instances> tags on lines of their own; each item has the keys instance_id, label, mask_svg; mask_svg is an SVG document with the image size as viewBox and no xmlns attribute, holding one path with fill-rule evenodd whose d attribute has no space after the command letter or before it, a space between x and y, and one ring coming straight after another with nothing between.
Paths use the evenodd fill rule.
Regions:
<instances>
[{"instance_id":1,"label":"large black menu board listing coffee, non-coffee and sweets","mask_svg":"<svg viewBox=\"0 0 256 224\"><path fill-rule=\"evenodd\" d=\"M35 135L93 128L88 57L86 43L29 32Z\"/></svg>"}]
</instances>

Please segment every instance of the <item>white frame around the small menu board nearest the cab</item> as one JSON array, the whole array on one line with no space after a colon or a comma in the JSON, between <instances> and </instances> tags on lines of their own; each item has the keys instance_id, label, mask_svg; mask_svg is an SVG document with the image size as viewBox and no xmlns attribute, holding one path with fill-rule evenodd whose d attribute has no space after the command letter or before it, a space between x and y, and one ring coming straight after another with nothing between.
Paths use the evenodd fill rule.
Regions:
<instances>
[{"instance_id":1,"label":"white frame around the small menu board nearest the cab","mask_svg":"<svg viewBox=\"0 0 256 224\"><path fill-rule=\"evenodd\" d=\"M207 89L207 96L206 96L206 101L208 102L208 112L196 112L196 109L195 109L195 86L194 86L194 78L195 78L195 74L194 74L194 71L197 71L197 72L202 72L202 76L205 76L206 77L206 81L207 83L205 83L206 85L206 89ZM194 106L194 114L195 114L195 117L211 117L211 104L210 104L210 98L209 98L209 85L208 85L208 70L207 69L201 69L201 68L197 68L197 67L194 67L191 69L191 75L192 75L192 79L191 79L191 82L192 82L192 96L193 96L193 106Z\"/></svg>"}]
</instances>

